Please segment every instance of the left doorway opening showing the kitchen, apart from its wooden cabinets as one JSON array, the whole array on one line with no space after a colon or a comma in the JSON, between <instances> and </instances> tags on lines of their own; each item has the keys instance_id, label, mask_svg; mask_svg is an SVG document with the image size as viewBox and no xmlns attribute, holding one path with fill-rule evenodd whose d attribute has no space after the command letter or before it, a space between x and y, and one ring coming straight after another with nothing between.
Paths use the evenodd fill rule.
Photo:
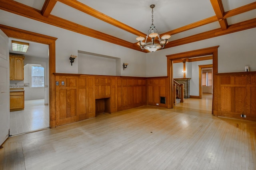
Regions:
<instances>
[{"instance_id":1,"label":"left doorway opening showing the kitchen, apart from its wooden cabinets","mask_svg":"<svg viewBox=\"0 0 256 170\"><path fill-rule=\"evenodd\" d=\"M26 53L12 51L12 41L29 44ZM9 38L9 52L22 55L23 80L10 80L10 89L24 89L24 109L10 112L9 135L49 128L49 45Z\"/></svg>"}]
</instances>

